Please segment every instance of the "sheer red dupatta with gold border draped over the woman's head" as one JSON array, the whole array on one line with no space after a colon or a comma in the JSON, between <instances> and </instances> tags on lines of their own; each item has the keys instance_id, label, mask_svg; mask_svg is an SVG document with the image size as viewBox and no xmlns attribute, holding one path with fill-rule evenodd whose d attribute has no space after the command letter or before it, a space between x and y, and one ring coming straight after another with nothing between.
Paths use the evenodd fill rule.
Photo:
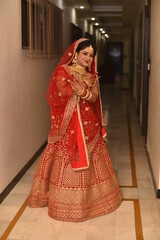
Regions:
<instances>
[{"instance_id":1,"label":"sheer red dupatta with gold border draped over the woman's head","mask_svg":"<svg viewBox=\"0 0 160 240\"><path fill-rule=\"evenodd\" d=\"M87 39L81 38L75 41L67 49L67 51L62 56L58 66L51 75L47 90L47 101L51 108L51 131L48 136L48 143L54 144L59 141L67 131L71 119L74 119L76 142L80 157L80 161L71 161L71 165L74 170L82 170L88 168L89 157L81 121L79 103L77 101L77 95L73 92L72 87L68 81L68 79L70 81L74 81L74 79L65 70L65 66L72 63L78 44L85 40ZM96 57L94 57L92 62L91 73L97 74ZM104 136L106 133L103 127L104 121L100 92L95 102L95 111L102 125L102 136Z\"/></svg>"}]
</instances>

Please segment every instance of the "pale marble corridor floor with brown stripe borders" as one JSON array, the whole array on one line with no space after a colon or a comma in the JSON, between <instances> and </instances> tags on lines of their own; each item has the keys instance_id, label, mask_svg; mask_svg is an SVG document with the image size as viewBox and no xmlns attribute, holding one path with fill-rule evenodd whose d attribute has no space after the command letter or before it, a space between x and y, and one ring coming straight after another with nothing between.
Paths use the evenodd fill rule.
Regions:
<instances>
[{"instance_id":1,"label":"pale marble corridor floor with brown stripe borders","mask_svg":"<svg viewBox=\"0 0 160 240\"><path fill-rule=\"evenodd\" d=\"M156 199L135 104L117 85L102 86L109 154L123 195L113 213L82 223L51 219L47 208L27 207L38 160L0 205L0 239L159 240L160 200Z\"/></svg>"}]
</instances>

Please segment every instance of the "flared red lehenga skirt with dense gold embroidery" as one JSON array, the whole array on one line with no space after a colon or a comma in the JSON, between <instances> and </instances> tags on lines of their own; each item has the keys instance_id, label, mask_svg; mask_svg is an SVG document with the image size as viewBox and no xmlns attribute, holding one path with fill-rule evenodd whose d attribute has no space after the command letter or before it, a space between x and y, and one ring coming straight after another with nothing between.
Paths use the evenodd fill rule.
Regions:
<instances>
[{"instance_id":1,"label":"flared red lehenga skirt with dense gold embroidery","mask_svg":"<svg viewBox=\"0 0 160 240\"><path fill-rule=\"evenodd\" d=\"M28 205L48 206L50 217L73 222L114 211L121 204L122 196L101 136L90 153L90 166L85 170L72 169L68 144L66 134L56 145L46 146Z\"/></svg>"}]
</instances>

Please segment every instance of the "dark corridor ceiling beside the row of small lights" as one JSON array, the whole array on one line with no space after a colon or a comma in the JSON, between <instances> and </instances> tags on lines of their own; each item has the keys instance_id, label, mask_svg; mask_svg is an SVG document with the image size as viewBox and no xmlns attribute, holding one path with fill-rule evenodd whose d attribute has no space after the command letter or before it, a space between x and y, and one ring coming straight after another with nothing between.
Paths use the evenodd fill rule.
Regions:
<instances>
[{"instance_id":1,"label":"dark corridor ceiling beside the row of small lights","mask_svg":"<svg viewBox=\"0 0 160 240\"><path fill-rule=\"evenodd\" d=\"M138 9L142 0L66 0L75 7L78 16L105 29L110 37L128 35L138 17ZM84 9L80 9L80 5ZM95 21L91 21L95 17Z\"/></svg>"}]
</instances>

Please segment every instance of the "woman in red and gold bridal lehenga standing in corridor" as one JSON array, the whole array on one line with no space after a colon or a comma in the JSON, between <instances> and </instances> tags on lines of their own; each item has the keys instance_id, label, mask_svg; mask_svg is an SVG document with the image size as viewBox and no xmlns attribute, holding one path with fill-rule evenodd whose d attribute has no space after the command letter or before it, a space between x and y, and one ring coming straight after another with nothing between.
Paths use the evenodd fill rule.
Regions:
<instances>
[{"instance_id":1,"label":"woman in red and gold bridal lehenga standing in corridor","mask_svg":"<svg viewBox=\"0 0 160 240\"><path fill-rule=\"evenodd\" d=\"M29 195L30 207L48 206L49 216L84 221L114 211L121 192L106 149L96 72L96 47L74 42L53 72L48 144Z\"/></svg>"}]
</instances>

